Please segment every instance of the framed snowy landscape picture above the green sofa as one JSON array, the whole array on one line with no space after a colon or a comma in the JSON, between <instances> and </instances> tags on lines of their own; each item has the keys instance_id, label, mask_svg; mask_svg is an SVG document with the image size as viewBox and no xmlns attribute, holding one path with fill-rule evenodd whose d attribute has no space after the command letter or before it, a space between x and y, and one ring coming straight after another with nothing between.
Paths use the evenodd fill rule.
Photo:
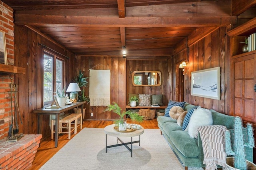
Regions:
<instances>
[{"instance_id":1,"label":"framed snowy landscape picture above the green sofa","mask_svg":"<svg viewBox=\"0 0 256 170\"><path fill-rule=\"evenodd\" d=\"M191 72L191 95L220 100L220 67Z\"/></svg>"}]
</instances>

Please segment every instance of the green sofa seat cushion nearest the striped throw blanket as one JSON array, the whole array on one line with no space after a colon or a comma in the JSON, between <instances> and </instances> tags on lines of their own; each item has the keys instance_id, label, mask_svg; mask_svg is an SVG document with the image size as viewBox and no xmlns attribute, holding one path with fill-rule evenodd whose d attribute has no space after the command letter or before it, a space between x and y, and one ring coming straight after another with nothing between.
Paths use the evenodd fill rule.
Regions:
<instances>
[{"instance_id":1,"label":"green sofa seat cushion nearest the striped throw blanket","mask_svg":"<svg viewBox=\"0 0 256 170\"><path fill-rule=\"evenodd\" d=\"M170 134L170 135L169 135ZM188 131L171 131L167 133L172 143L184 156L193 158L199 155L197 139L188 135ZM182 141L180 141L182 139Z\"/></svg>"}]
</instances>

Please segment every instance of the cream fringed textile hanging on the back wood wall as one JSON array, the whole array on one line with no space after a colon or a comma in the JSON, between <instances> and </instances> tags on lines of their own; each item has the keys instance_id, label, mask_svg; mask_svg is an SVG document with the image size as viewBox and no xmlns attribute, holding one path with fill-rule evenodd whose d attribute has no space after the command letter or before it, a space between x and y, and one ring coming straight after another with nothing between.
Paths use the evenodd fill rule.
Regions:
<instances>
[{"instance_id":1,"label":"cream fringed textile hanging on the back wood wall","mask_svg":"<svg viewBox=\"0 0 256 170\"><path fill-rule=\"evenodd\" d=\"M110 70L90 69L90 106L110 105Z\"/></svg>"}]
</instances>

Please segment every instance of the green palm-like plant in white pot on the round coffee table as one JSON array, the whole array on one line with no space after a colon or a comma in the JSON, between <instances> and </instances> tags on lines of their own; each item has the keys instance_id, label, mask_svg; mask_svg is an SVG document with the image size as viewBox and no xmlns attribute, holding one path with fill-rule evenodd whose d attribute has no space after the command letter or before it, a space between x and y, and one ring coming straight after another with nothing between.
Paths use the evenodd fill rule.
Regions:
<instances>
[{"instance_id":1,"label":"green palm-like plant in white pot on the round coffee table","mask_svg":"<svg viewBox=\"0 0 256 170\"><path fill-rule=\"evenodd\" d=\"M126 120L124 119L126 115L129 115L132 121L137 121L138 123L143 121L143 116L138 115L138 113L134 113L130 110L126 111L121 109L117 103L113 102L113 104L108 105L105 111L113 111L118 114L118 118L114 121L115 126L119 127L120 131L126 130Z\"/></svg>"}]
</instances>

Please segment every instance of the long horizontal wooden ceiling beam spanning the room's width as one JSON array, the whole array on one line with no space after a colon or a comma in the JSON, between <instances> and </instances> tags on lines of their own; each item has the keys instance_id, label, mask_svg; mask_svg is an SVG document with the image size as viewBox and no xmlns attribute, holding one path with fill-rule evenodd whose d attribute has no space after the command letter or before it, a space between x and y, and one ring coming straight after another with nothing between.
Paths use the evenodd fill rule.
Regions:
<instances>
[{"instance_id":1,"label":"long horizontal wooden ceiling beam spanning the room's width","mask_svg":"<svg viewBox=\"0 0 256 170\"><path fill-rule=\"evenodd\" d=\"M235 16L192 17L125 17L116 16L49 16L15 14L18 25L101 26L101 27L212 27L236 24ZM57 24L57 25L56 25Z\"/></svg>"}]
</instances>

